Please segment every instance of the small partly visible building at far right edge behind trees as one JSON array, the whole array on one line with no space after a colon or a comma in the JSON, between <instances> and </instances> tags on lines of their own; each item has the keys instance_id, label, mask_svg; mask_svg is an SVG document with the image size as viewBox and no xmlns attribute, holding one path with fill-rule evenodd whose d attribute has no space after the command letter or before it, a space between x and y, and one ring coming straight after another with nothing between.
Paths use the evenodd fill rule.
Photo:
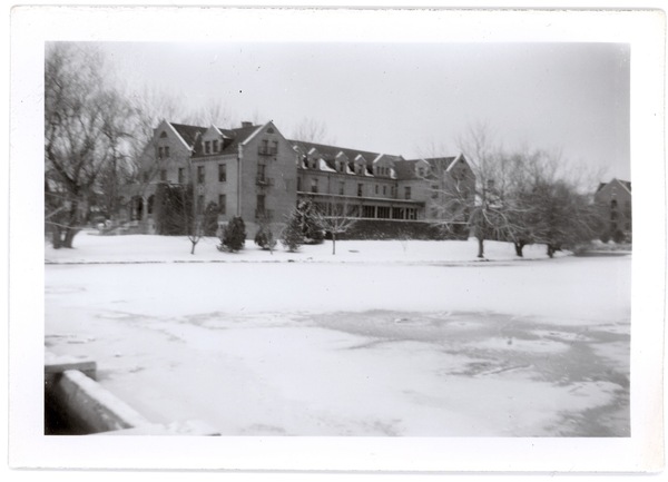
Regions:
<instances>
[{"instance_id":1,"label":"small partly visible building at far right edge behind trees","mask_svg":"<svg viewBox=\"0 0 668 482\"><path fill-rule=\"evenodd\" d=\"M608 226L605 236L616 242L631 240L633 232L631 183L620 179L601 183L593 198Z\"/></svg>"}]
</instances>

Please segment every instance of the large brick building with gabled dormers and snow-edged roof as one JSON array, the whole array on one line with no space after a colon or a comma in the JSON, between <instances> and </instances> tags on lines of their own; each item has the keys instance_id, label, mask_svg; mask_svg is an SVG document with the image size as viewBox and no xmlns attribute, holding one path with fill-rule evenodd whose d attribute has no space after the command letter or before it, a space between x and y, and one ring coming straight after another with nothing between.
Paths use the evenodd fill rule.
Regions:
<instances>
[{"instance_id":1,"label":"large brick building with gabled dormers and snow-edged roof","mask_svg":"<svg viewBox=\"0 0 668 482\"><path fill-rule=\"evenodd\" d=\"M404 159L288 140L273 122L220 129L163 121L139 164L143 183L128 194L145 232L155 230L160 183L191 185L197 213L215 203L220 224L242 216L249 235L262 218L284 222L298 199L325 212L344 206L362 219L431 220L449 184L475 183L463 155Z\"/></svg>"}]
</instances>

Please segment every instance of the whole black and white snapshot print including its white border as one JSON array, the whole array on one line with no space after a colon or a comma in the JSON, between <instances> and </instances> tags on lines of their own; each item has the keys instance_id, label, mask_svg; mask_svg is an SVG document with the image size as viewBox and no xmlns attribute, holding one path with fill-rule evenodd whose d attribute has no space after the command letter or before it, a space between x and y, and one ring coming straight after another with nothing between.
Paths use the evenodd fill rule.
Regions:
<instances>
[{"instance_id":1,"label":"whole black and white snapshot print including its white border","mask_svg":"<svg viewBox=\"0 0 668 482\"><path fill-rule=\"evenodd\" d=\"M664 104L633 94L661 91L635 70L661 12L156 9L148 35L150 11L51 13L102 29L23 29L38 59L12 65L12 106L29 99L35 120L12 135L33 175L23 276L43 282L14 309L41 313L19 335L43 378L10 386L41 387L20 419L31 407L53 459L91 439L531 441L536 463L507 469L605 469L593 442L625 470L662 466L644 451L662 454L665 198L651 226L636 204L665 196L662 127L635 106ZM579 454L549 455L562 442ZM475 466L441 462L387 466Z\"/></svg>"}]
</instances>

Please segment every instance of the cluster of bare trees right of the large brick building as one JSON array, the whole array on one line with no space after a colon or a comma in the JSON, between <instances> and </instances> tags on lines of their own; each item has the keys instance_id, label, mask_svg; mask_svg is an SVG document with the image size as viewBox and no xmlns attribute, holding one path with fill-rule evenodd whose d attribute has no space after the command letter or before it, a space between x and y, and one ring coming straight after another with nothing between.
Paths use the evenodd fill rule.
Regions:
<instances>
[{"instance_id":1,"label":"cluster of bare trees right of the large brick building","mask_svg":"<svg viewBox=\"0 0 668 482\"><path fill-rule=\"evenodd\" d=\"M544 244L552 257L603 232L588 186L593 177L582 169L568 168L559 156L542 150L497 148L484 125L471 127L460 139L460 149L475 175L474 187L455 179L444 189L434 188L432 198L438 201L432 208L439 219L434 224L452 229L468 223L478 239L478 257L484 257L485 240L510 242L518 256L527 245Z\"/></svg>"}]
</instances>

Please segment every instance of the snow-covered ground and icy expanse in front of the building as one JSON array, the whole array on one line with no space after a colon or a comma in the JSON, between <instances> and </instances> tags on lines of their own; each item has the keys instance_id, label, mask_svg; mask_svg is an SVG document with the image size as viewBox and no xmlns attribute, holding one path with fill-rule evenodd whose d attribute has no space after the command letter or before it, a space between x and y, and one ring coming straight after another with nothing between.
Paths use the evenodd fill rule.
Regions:
<instances>
[{"instance_id":1,"label":"snow-covered ground and icy expanse in front of the building","mask_svg":"<svg viewBox=\"0 0 668 482\"><path fill-rule=\"evenodd\" d=\"M46 248L46 348L97 361L99 382L157 423L629 435L630 255L536 246L518 259L485 243L481 263L473 242L412 240L233 255L205 239L191 256L185 238L87 234L75 246Z\"/></svg>"}]
</instances>

